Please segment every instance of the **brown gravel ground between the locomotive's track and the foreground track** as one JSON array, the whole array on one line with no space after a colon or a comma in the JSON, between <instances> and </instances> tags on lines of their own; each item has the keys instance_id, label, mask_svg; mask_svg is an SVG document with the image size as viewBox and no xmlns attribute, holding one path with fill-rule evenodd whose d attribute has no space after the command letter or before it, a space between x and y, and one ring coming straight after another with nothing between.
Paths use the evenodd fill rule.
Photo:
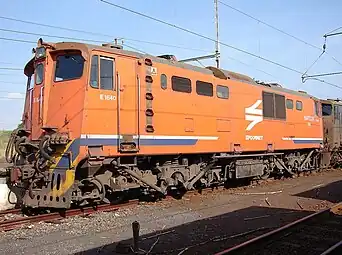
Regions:
<instances>
[{"instance_id":1,"label":"brown gravel ground between the locomotive's track and the foreground track","mask_svg":"<svg viewBox=\"0 0 342 255\"><path fill-rule=\"evenodd\" d=\"M342 171L140 203L0 233L0 254L211 254L342 200Z\"/></svg>"}]
</instances>

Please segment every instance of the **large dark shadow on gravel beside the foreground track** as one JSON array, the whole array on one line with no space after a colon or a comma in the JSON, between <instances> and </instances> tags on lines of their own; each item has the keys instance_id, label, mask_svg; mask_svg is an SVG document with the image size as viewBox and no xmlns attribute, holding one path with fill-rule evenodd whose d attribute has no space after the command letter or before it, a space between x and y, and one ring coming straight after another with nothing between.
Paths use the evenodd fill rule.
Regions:
<instances>
[{"instance_id":1,"label":"large dark shadow on gravel beside the foreground track","mask_svg":"<svg viewBox=\"0 0 342 255\"><path fill-rule=\"evenodd\" d=\"M312 212L251 206L219 216L141 235L141 254L214 254ZM141 223L140 228L148 228ZM146 223L148 224L148 223ZM151 223L150 223L151 224ZM132 234L133 236L133 234ZM133 238L80 254L133 254Z\"/></svg>"}]
</instances>

